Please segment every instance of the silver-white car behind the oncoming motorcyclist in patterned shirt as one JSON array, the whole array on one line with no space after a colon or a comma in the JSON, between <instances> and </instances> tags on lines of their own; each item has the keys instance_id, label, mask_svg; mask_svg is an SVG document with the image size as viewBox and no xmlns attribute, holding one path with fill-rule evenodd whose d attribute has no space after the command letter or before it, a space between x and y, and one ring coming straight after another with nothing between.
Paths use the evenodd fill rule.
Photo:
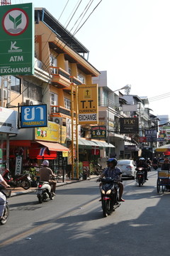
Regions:
<instances>
[{"instance_id":1,"label":"silver-white car behind the oncoming motorcyclist in patterned shirt","mask_svg":"<svg viewBox=\"0 0 170 256\"><path fill-rule=\"evenodd\" d=\"M122 171L122 177L135 179L136 177L136 164L131 159L120 159L117 164L118 168Z\"/></svg>"}]
</instances>

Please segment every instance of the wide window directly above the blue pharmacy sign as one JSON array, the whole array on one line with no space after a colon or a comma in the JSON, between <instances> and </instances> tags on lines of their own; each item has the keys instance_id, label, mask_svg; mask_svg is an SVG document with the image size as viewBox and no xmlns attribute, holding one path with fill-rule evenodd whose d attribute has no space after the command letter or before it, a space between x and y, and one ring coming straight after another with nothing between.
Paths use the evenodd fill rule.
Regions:
<instances>
[{"instance_id":1,"label":"wide window directly above the blue pharmacy sign","mask_svg":"<svg viewBox=\"0 0 170 256\"><path fill-rule=\"evenodd\" d=\"M23 96L42 102L42 87L23 80Z\"/></svg>"}]
</instances>

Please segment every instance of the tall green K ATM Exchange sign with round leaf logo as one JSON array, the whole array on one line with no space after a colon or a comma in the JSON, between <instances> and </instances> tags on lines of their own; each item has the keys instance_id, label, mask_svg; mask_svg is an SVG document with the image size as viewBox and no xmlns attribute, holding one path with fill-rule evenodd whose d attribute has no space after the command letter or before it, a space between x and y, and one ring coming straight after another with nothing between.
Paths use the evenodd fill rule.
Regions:
<instances>
[{"instance_id":1,"label":"tall green K ATM Exchange sign with round leaf logo","mask_svg":"<svg viewBox=\"0 0 170 256\"><path fill-rule=\"evenodd\" d=\"M33 75L33 4L0 6L0 75Z\"/></svg>"}]
</instances>

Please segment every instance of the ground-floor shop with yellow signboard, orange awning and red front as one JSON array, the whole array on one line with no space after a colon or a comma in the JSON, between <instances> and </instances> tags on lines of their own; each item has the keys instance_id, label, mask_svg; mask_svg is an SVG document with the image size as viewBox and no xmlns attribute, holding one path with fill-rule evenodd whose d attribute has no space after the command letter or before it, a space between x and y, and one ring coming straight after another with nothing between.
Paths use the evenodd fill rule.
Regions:
<instances>
[{"instance_id":1,"label":"ground-floor shop with yellow signboard, orange awning and red front","mask_svg":"<svg viewBox=\"0 0 170 256\"><path fill-rule=\"evenodd\" d=\"M18 136L10 141L11 171L14 171L18 155L22 157L21 172L33 165L40 167L44 159L50 161L50 167L55 173L60 171L69 151L64 144L65 133L65 127L50 121L47 127L20 129Z\"/></svg>"}]
</instances>

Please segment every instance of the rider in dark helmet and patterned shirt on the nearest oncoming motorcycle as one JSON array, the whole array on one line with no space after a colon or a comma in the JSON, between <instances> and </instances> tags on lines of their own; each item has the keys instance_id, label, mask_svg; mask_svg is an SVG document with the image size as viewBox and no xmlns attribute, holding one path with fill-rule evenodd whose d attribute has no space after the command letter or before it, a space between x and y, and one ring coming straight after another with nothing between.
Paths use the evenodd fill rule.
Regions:
<instances>
[{"instance_id":1,"label":"rider in dark helmet and patterned shirt on the nearest oncoming motorcycle","mask_svg":"<svg viewBox=\"0 0 170 256\"><path fill-rule=\"evenodd\" d=\"M118 180L119 186L119 201L124 202L125 200L122 198L123 195L123 183L122 183L122 171L117 166L117 159L111 158L108 159L108 168L104 169L103 173L99 176L98 181L100 181L103 177L111 177Z\"/></svg>"}]
</instances>

